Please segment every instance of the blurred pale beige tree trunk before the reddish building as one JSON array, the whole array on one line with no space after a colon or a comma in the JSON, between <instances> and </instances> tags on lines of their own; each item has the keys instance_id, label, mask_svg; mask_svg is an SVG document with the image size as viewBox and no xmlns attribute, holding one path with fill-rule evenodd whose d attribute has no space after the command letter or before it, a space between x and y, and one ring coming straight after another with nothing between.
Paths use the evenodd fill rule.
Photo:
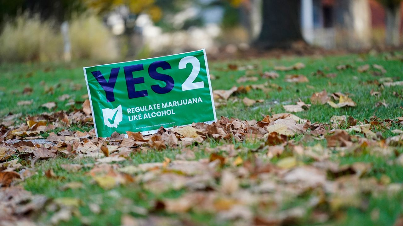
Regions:
<instances>
[{"instance_id":1,"label":"blurred pale beige tree trunk before the reddish building","mask_svg":"<svg viewBox=\"0 0 403 226\"><path fill-rule=\"evenodd\" d=\"M337 0L338 45L349 49L371 46L371 9L368 0Z\"/></svg>"}]
</instances>

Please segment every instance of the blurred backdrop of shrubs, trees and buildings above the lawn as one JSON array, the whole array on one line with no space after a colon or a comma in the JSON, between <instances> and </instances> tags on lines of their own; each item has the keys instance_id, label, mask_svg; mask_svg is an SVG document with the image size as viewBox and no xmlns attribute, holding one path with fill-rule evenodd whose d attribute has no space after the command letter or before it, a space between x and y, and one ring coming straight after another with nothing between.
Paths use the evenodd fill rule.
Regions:
<instances>
[{"instance_id":1,"label":"blurred backdrop of shrubs, trees and buildings above the lawn","mask_svg":"<svg viewBox=\"0 0 403 226\"><path fill-rule=\"evenodd\" d=\"M402 0L0 0L0 62L391 49Z\"/></svg>"}]
</instances>

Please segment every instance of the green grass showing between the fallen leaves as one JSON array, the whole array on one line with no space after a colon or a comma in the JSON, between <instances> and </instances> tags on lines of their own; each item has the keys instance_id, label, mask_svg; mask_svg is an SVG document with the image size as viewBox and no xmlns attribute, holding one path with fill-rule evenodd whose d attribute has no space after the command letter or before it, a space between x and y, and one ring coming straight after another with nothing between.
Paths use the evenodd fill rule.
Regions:
<instances>
[{"instance_id":1,"label":"green grass showing between the fallen leaves","mask_svg":"<svg viewBox=\"0 0 403 226\"><path fill-rule=\"evenodd\" d=\"M228 101L224 107L216 109L217 116L234 117L243 120L256 119L260 120L263 115L283 113L285 110L282 105L294 104L301 99L305 103L310 103L310 97L314 92L320 92L326 89L328 93L343 92L348 93L349 97L357 103L356 107L334 109L328 105L312 105L308 111L295 113L295 115L309 119L311 122L328 122L333 115L349 115L359 121L370 119L376 115L381 119L394 119L403 115L403 110L399 107L403 105L403 100L395 97L393 92L403 95L402 86L381 87L378 84L373 84L375 80L382 77L391 77L395 81L403 80L403 64L400 61L385 60L386 53L378 55L341 55L341 56L324 56L324 57L285 57L278 60L274 59L254 59L254 60L237 60L229 62L210 62L210 73L216 76L216 80L212 80L213 89L229 89L233 85L240 86L235 81L241 76L245 76L245 71L228 70L228 64L237 64L239 66L257 65L259 70L271 71L274 66L290 66L297 62L302 62L306 68L299 71L279 72L280 77L274 80L262 79L258 76L258 71L251 72L251 76L258 76L257 82L247 82L246 84L259 84L269 82L278 84L282 90L272 90L268 93L262 90L252 90L246 94L239 94L236 97L241 100L244 97L250 99L264 99L264 103L246 107L241 101ZM27 115L37 115L42 112L48 112L48 109L40 107L40 105L54 101L58 104L55 111L69 111L73 108L81 108L81 102L85 99L82 97L87 93L85 80L83 76L83 66L95 65L89 62L75 62L72 64L2 64L0 65L0 115L5 116L8 113L22 113L22 121ZM350 64L353 69L338 71L335 67L340 64ZM358 73L357 66L364 64L379 64L387 70L386 75L381 77L373 76L370 72ZM323 70L325 74L337 73L335 78L326 78L313 73L317 70ZM310 80L308 83L293 84L285 82L286 74L303 74ZM245 84L244 84L245 85ZM23 95L25 87L33 88L31 94ZM50 87L54 87L54 92L46 92ZM380 97L371 96L370 90L380 91ZM68 94L71 99L77 101L73 106L65 106L66 101L59 101L58 97ZM17 106L18 101L33 100L32 105ZM376 107L378 101L383 101L388 104L388 107ZM60 131L62 128L56 129L54 132ZM75 131L88 131L88 127L72 125L69 129ZM381 129L380 132L385 138L392 136L392 129L403 129L402 126L393 125L391 129ZM359 135L359 134L357 134ZM48 136L48 133L42 134ZM295 136L295 142L299 142L304 146L314 146L322 144L326 146L326 140L305 141L303 136ZM210 153L205 151L205 148L220 148L224 144L234 144L236 148L240 148L239 155L243 160L251 160L255 157L264 156L266 152L259 150L256 153L250 152L260 146L260 142L256 141L216 141L208 139L198 147L193 147L195 150L196 159L208 158ZM398 153L403 152L400 148ZM120 166L137 165L145 162L162 162L164 158L174 159L177 154L181 154L180 149L167 149L163 151L137 152L131 154L129 160L119 162ZM225 153L222 153L225 155ZM343 157L333 153L333 160L341 162L341 164L352 164L354 162L370 162L373 167L369 172L366 172L365 177L375 177L380 179L386 175L391 179L391 183L403 182L403 167L397 164L391 164L397 157L376 156L371 153L347 154ZM287 152L283 153L287 156ZM283 158L284 156L280 156ZM275 157L270 161L275 163L279 158ZM263 158L263 161L269 161ZM303 160L306 164L311 162L310 159ZM20 162L24 162L20 159ZM73 159L73 158L56 158L51 160L41 160L36 163L37 174L23 181L22 185L28 191L34 194L44 194L51 199L60 197L76 197L81 200L79 214L73 216L69 222L63 222L62 225L82 225L82 222L88 221L90 225L118 225L123 214L141 217L142 215L136 212L135 207L145 208L153 211L154 203L164 198L179 197L185 191L182 189L167 191L161 194L154 194L146 191L136 183L126 186L119 186L112 190L104 190L99 187L87 173L90 167L83 168L77 173L69 173L60 165L68 163L94 163L92 158ZM226 165L225 167L229 167ZM44 176L44 172L52 169L57 176L62 179L50 179ZM60 189L63 185L71 181L79 181L83 183L82 189ZM245 185L248 186L248 185ZM309 196L309 195L308 195ZM380 194L378 196L370 196L366 208L347 208L341 218L334 218L331 221L335 225L393 225L395 220L403 214L401 199L403 193L388 196ZM89 208L90 203L96 203L100 206L101 212L93 214ZM307 203L306 197L298 197L285 205L285 208L291 208ZM371 220L371 213L379 211L379 217L376 220ZM36 219L39 222L49 222L54 210L47 209L48 214L44 214ZM173 219L188 220L185 215L170 215L164 212L153 212L157 216L166 216ZM192 212L191 220L196 222L196 225L227 225L229 222L217 222L214 216L210 214ZM307 218L301 225L310 224Z\"/></svg>"}]
</instances>

